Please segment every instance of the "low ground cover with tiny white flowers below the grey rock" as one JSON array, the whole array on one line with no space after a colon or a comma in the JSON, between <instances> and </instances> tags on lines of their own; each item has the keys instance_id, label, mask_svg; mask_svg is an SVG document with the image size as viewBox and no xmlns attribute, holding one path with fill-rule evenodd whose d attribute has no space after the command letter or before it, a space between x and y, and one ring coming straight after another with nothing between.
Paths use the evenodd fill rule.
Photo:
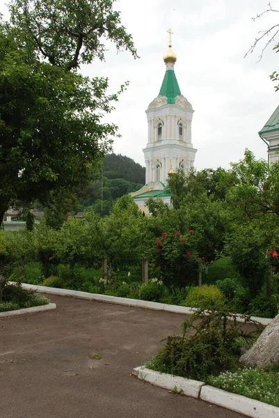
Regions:
<instances>
[{"instance_id":1,"label":"low ground cover with tiny white flowers below the grey rock","mask_svg":"<svg viewBox=\"0 0 279 418\"><path fill-rule=\"evenodd\" d=\"M257 399L279 407L279 373L263 369L238 369L225 371L219 376L209 376L209 385L234 394Z\"/></svg>"}]
</instances>

